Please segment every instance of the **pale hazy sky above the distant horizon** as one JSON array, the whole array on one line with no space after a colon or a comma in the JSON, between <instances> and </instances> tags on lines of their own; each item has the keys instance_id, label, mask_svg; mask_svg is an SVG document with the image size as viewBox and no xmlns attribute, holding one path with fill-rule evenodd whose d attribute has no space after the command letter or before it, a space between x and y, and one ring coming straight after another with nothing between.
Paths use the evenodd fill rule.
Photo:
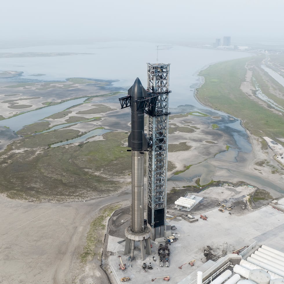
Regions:
<instances>
[{"instance_id":1,"label":"pale hazy sky above the distant horizon","mask_svg":"<svg viewBox=\"0 0 284 284\"><path fill-rule=\"evenodd\" d=\"M2 0L2 39L283 39L284 0Z\"/></svg>"}]
</instances>

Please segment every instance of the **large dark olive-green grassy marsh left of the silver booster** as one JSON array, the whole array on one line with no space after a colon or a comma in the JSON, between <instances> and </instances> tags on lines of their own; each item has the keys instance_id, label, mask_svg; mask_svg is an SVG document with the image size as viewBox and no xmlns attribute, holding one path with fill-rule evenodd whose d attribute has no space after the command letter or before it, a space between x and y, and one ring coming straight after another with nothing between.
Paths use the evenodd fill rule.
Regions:
<instances>
[{"instance_id":1,"label":"large dark olive-green grassy marsh left of the silver booster","mask_svg":"<svg viewBox=\"0 0 284 284\"><path fill-rule=\"evenodd\" d=\"M79 134L78 130L63 129L9 144L0 152L0 192L14 192L18 199L24 196L54 202L88 200L117 192L123 186L119 178L131 172L131 153L123 146L128 134L108 132L103 134L105 140L48 147Z\"/></svg>"}]
</instances>

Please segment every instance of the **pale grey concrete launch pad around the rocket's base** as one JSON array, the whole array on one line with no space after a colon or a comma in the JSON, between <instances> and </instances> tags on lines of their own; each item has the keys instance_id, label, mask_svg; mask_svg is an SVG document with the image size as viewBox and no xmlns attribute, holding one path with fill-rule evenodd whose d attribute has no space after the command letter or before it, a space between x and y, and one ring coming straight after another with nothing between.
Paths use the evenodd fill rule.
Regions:
<instances>
[{"instance_id":1,"label":"pale grey concrete launch pad around the rocket's base","mask_svg":"<svg viewBox=\"0 0 284 284\"><path fill-rule=\"evenodd\" d=\"M278 201L284 205L284 199ZM128 261L128 256L122 256L126 264L125 270L119 270L119 255L123 254L125 241L123 238L109 236L108 259L109 269L117 283L124 276L130 277L131 281L138 283L150 283L152 278L160 276L170 276L172 283L179 283L186 278L183 283L190 283L196 277L198 270L208 270L215 264L213 261L206 262L203 250L207 245L212 247L216 254L221 254L224 242L227 242L227 254L243 246L249 246L256 241L257 247L265 244L284 252L284 214L271 206L265 206L258 210L249 211L241 208L234 208L232 214L222 213L215 207L207 212L195 212L196 214L206 214L206 221L200 219L199 222L188 223L181 217L168 220L170 225L175 225L177 229L173 231L178 241L172 243L170 248L169 267L159 265L158 247L159 243L151 241L152 255L146 257L148 265L151 263L153 269L142 269L143 261L139 258ZM127 222L124 223L127 226ZM119 228L118 228L119 229ZM163 243L164 244L164 243ZM138 245L138 243L136 244ZM156 258L156 262L153 260ZM194 266L184 263L195 259ZM128 267L128 263L131 267ZM157 279L155 282L163 282ZM114 282L115 283L115 282Z\"/></svg>"}]
</instances>

